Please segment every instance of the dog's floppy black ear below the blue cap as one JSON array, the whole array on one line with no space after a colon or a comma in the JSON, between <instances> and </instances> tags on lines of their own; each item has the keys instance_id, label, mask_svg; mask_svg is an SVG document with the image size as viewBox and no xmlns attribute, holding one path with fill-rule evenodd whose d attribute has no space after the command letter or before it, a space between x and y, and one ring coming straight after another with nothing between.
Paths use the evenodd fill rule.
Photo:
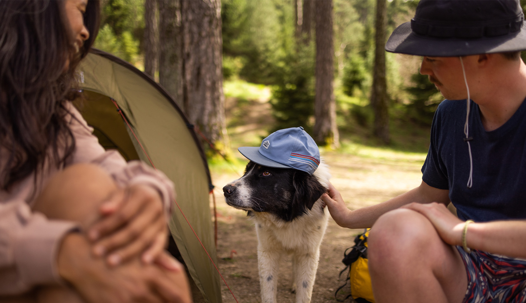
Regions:
<instances>
[{"instance_id":1,"label":"dog's floppy black ear below the blue cap","mask_svg":"<svg viewBox=\"0 0 526 303\"><path fill-rule=\"evenodd\" d=\"M296 191L293 199L294 205L305 205L309 210L318 200L321 195L327 193L327 188L321 185L318 179L306 173L305 171L297 170L292 177L292 184Z\"/></svg>"}]
</instances>

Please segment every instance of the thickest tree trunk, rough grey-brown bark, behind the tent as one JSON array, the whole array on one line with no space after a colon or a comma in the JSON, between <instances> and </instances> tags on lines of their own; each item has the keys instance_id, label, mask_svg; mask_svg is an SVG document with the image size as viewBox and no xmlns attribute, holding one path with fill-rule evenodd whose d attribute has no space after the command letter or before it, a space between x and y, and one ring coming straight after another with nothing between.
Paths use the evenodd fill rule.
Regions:
<instances>
[{"instance_id":1,"label":"thickest tree trunk, rough grey-brown bark, behind the tent","mask_svg":"<svg viewBox=\"0 0 526 303\"><path fill-rule=\"evenodd\" d=\"M222 77L220 0L181 1L183 108L198 130L225 151L229 147Z\"/></svg>"}]
</instances>

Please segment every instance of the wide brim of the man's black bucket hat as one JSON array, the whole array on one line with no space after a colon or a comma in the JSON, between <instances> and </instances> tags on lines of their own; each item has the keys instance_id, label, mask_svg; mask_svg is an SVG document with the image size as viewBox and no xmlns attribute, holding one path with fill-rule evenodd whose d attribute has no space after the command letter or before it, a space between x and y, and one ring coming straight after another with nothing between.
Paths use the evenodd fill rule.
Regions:
<instances>
[{"instance_id":1,"label":"wide brim of the man's black bucket hat","mask_svg":"<svg viewBox=\"0 0 526 303\"><path fill-rule=\"evenodd\" d=\"M411 22L398 26L389 37L386 50L417 56L453 57L515 52L526 49L526 22L514 35L477 39L433 38L412 32Z\"/></svg>"}]
</instances>

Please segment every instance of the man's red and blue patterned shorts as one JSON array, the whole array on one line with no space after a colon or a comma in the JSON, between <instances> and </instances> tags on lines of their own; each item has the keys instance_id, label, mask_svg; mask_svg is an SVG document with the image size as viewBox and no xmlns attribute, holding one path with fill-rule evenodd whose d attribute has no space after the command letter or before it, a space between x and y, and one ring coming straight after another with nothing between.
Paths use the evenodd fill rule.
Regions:
<instances>
[{"instance_id":1,"label":"man's red and blue patterned shorts","mask_svg":"<svg viewBox=\"0 0 526 303\"><path fill-rule=\"evenodd\" d=\"M466 273L468 289L462 303L526 302L526 260L511 259L457 246Z\"/></svg>"}]
</instances>

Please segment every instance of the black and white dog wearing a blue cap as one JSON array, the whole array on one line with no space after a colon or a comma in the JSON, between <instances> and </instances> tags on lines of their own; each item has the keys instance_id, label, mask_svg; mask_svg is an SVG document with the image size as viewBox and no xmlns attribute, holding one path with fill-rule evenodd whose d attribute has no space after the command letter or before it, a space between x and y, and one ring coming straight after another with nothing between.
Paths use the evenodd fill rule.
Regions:
<instances>
[{"instance_id":1,"label":"black and white dog wearing a blue cap","mask_svg":"<svg viewBox=\"0 0 526 303\"><path fill-rule=\"evenodd\" d=\"M294 134L305 133L302 128L289 128L278 132L283 131ZM276 302L279 261L282 255L291 254L292 291L296 292L297 303L308 303L316 278L320 244L329 218L324 211L325 205L320 196L327 191L330 174L328 167L319 163L319 151L316 145L314 146L316 146L315 152L318 158L312 157L317 166L314 169L305 168L306 163L289 165L290 163L281 159L284 158L282 155L274 155L276 151L271 151L269 154L265 145L282 143L281 138L272 137L274 134L264 139L259 148L266 148L265 159L260 159L261 154L255 156L247 150L239 149L251 161L246 166L245 174L223 187L223 191L228 205L247 210L248 215L255 221L262 302ZM306 135L312 140L307 133L300 135ZM267 140L269 138L270 140ZM290 136L286 136L285 140L285 145L298 143L291 140ZM307 149L313 150L314 147L310 146ZM302 151L301 154L292 154L295 154L295 157L297 155L307 157L300 157L302 158L300 162L305 162L303 159L310 157L306 155L309 152L300 151ZM312 153L315 152L312 151ZM281 154L280 151L277 154ZM285 159L290 154L286 153ZM281 166L269 164L266 161L268 159L280 160ZM255 161L274 167L258 164ZM295 161L296 158L292 159L292 162ZM282 166L294 166L295 168L283 168Z\"/></svg>"}]
</instances>

